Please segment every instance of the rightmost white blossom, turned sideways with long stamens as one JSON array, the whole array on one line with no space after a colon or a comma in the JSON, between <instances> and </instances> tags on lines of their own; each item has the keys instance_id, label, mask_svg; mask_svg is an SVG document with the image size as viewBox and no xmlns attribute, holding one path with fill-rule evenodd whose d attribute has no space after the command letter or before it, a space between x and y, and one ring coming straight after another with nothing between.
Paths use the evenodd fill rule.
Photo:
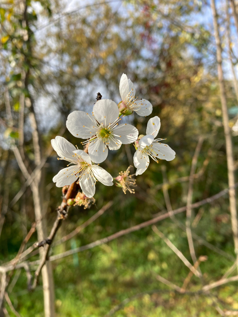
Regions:
<instances>
[{"instance_id":1,"label":"rightmost white blossom, turned sideways with long stamens","mask_svg":"<svg viewBox=\"0 0 238 317\"><path fill-rule=\"evenodd\" d=\"M149 119L146 135L139 136L135 142L136 152L134 154L134 165L137 168L136 175L141 175L149 166L149 156L159 163L158 159L172 161L175 151L167 144L161 143L164 139L155 139L160 129L160 118L155 116Z\"/></svg>"}]
</instances>

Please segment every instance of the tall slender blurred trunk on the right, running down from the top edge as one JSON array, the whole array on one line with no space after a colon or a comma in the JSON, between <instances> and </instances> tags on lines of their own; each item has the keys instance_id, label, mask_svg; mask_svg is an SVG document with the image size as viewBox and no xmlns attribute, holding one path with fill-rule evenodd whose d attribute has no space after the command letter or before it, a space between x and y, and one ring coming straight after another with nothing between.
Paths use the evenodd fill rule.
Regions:
<instances>
[{"instance_id":1,"label":"tall slender blurred trunk on the right, running down from the top edge","mask_svg":"<svg viewBox=\"0 0 238 317\"><path fill-rule=\"evenodd\" d=\"M238 223L237 223L236 201L235 201L234 160L233 160L231 132L229 128L229 118L228 118L228 111L227 111L225 86L224 86L224 80L223 80L223 71L222 71L222 65L221 65L221 62L222 62L221 41L220 41L220 36L218 31L217 13L216 13L214 0L211 0L211 10L212 10L212 16L213 16L214 35L215 35L215 41L216 41L217 72L218 72L218 81L220 86L221 108L222 108L225 140L226 140L231 225L232 225L232 231L233 231L233 239L235 244L235 254L236 254L237 269L238 269L238 227L237 227Z\"/></svg>"}]
</instances>

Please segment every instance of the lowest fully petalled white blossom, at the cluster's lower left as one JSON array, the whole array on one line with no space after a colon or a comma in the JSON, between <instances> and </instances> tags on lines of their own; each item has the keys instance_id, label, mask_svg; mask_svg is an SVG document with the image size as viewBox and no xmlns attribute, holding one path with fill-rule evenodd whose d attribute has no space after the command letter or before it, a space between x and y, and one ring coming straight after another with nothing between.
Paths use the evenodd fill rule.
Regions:
<instances>
[{"instance_id":1,"label":"lowest fully petalled white blossom, at the cluster's lower left","mask_svg":"<svg viewBox=\"0 0 238 317\"><path fill-rule=\"evenodd\" d=\"M73 164L67 165L66 168L59 171L53 178L53 182L56 183L57 187L70 185L77 180L83 193L87 197L93 197L97 181L106 186L113 185L111 175L102 167L93 164L89 158L89 154L76 149L73 144L60 136L56 136L55 139L52 139L51 144L59 155L58 160L62 159Z\"/></svg>"}]
</instances>

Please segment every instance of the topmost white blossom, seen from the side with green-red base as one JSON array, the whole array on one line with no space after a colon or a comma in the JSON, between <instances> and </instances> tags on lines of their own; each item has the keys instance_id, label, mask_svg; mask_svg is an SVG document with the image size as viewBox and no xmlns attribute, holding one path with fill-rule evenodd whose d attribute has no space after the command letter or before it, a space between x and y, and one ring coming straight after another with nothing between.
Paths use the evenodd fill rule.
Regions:
<instances>
[{"instance_id":1,"label":"topmost white blossom, seen from the side with green-red base","mask_svg":"<svg viewBox=\"0 0 238 317\"><path fill-rule=\"evenodd\" d=\"M151 103L148 100L136 97L136 88L126 74L122 74L119 91L122 98L122 101L118 104L120 113L129 115L136 111L142 117L149 116L152 113Z\"/></svg>"}]
</instances>

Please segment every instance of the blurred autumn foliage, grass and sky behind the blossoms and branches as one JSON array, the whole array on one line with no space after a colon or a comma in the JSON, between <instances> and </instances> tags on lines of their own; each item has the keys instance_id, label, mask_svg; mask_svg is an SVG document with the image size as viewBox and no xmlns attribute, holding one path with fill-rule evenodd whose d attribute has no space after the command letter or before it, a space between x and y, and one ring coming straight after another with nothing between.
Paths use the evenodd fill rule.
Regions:
<instances>
[{"instance_id":1,"label":"blurred autumn foliage, grass and sky behind the blossoms and branches","mask_svg":"<svg viewBox=\"0 0 238 317\"><path fill-rule=\"evenodd\" d=\"M238 103L233 73L237 72L238 39L229 5L223 0L216 2L237 175ZM86 210L71 207L56 240L109 201L112 206L72 239L52 246L50 255L86 245L167 212L166 191L172 209L186 206L192 158L200 137L204 140L196 164L193 202L228 187L209 2L5 0L0 4L0 15L1 264L17 255L35 221L30 186L25 186L21 198L11 204L25 184L12 149L18 146L31 173L39 165L34 148L34 131L38 131L40 158L46 158L39 192L49 234L62 201L61 189L52 178L65 167L63 161L57 160L56 152L51 151L50 140L60 134L79 146L82 140L66 129L68 114L74 110L92 111L98 92L103 99L120 102L119 81L123 73L134 82L136 95L153 105L149 117L134 114L123 120L134 124L139 134L145 134L149 118L159 116L158 137L167 138L176 157L158 164L151 160L147 171L136 177L135 194L125 195L115 185L97 184L96 204ZM32 116L36 118L35 130ZM133 165L134 152L133 145L109 151L101 166L116 177ZM186 211L176 218L185 225ZM228 194L195 208L191 223L192 232L202 239L194 240L196 256L208 257L200 265L203 283L217 281L235 260ZM170 218L156 226L192 263L183 227ZM26 247L36 241L35 232ZM28 261L38 258L35 254ZM205 296L178 294L158 281L159 274L182 287L189 269L151 226L52 261L51 266L56 316L104 316L125 299L130 300L110 315L218 316L221 312L216 305L223 311L238 309L237 282ZM200 279L192 276L187 289L200 290ZM28 292L24 270L15 270L10 275L8 294L21 316L44 316L41 279L36 290ZM3 316L6 311L14 316L7 302L4 307Z\"/></svg>"}]
</instances>

